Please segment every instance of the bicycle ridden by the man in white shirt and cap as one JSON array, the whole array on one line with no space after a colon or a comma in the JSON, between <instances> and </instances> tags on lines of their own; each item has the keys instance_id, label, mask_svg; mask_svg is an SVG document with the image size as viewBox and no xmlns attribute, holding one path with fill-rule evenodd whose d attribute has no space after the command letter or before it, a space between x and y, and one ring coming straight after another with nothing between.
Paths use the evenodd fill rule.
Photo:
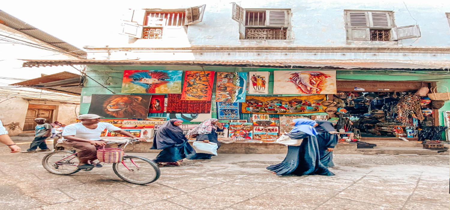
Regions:
<instances>
[{"instance_id":1,"label":"bicycle ridden by the man in white shirt and cap","mask_svg":"<svg viewBox=\"0 0 450 210\"><path fill-rule=\"evenodd\" d=\"M137 141L138 140L135 139L127 140L123 148L128 144ZM123 144L119 144L119 148L121 145ZM77 154L78 152L66 150L50 152L42 159L42 166L44 166L45 170L48 172L58 175L70 175L75 174L80 170L92 170L93 168L79 169L76 167L79 163ZM95 165L97 163L93 164ZM155 162L144 157L126 154L122 157L121 162L112 164L112 170L120 179L133 184L152 183L156 181L161 174L161 171Z\"/></svg>"}]
</instances>

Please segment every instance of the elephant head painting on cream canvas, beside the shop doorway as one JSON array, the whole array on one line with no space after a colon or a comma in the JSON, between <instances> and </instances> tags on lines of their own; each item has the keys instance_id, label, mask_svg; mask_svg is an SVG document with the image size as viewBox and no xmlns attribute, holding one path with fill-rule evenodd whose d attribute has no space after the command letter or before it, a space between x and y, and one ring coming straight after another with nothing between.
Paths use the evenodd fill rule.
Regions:
<instances>
[{"instance_id":1,"label":"elephant head painting on cream canvas, beside the shop doorway","mask_svg":"<svg viewBox=\"0 0 450 210\"><path fill-rule=\"evenodd\" d=\"M274 71L274 94L336 94L336 71Z\"/></svg>"}]
</instances>

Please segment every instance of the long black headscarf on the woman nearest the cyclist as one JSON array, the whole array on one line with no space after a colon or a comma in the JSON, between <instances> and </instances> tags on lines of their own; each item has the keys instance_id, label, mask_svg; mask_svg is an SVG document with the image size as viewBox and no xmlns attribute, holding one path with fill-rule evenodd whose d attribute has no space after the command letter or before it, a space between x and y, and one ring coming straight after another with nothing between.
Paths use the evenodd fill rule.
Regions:
<instances>
[{"instance_id":1,"label":"long black headscarf on the woman nearest the cyclist","mask_svg":"<svg viewBox=\"0 0 450 210\"><path fill-rule=\"evenodd\" d=\"M176 121L180 120L171 119L159 127L151 149L165 149L188 141L183 134L183 130L179 126L173 125Z\"/></svg>"}]
</instances>

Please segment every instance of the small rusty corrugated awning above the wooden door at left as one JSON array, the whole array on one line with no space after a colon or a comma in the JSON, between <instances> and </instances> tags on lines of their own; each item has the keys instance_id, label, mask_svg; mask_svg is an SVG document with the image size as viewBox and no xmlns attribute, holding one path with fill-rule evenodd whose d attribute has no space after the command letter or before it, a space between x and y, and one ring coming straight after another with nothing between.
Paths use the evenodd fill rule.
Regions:
<instances>
[{"instance_id":1,"label":"small rusty corrugated awning above the wooden door at left","mask_svg":"<svg viewBox=\"0 0 450 210\"><path fill-rule=\"evenodd\" d=\"M59 72L52 75L41 76L31 80L25 80L11 85L20 85L35 89L44 89L47 91L81 95L81 86L83 77L68 71Z\"/></svg>"}]
</instances>

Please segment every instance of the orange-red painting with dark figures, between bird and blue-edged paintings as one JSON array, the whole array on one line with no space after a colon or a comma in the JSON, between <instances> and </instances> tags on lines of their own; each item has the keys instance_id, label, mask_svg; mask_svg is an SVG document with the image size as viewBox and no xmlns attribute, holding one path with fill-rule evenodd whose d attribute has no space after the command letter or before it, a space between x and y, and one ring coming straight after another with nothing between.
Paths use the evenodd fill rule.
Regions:
<instances>
[{"instance_id":1,"label":"orange-red painting with dark figures, between bird and blue-edged paintings","mask_svg":"<svg viewBox=\"0 0 450 210\"><path fill-rule=\"evenodd\" d=\"M186 71L181 100L211 101L215 71Z\"/></svg>"}]
</instances>

